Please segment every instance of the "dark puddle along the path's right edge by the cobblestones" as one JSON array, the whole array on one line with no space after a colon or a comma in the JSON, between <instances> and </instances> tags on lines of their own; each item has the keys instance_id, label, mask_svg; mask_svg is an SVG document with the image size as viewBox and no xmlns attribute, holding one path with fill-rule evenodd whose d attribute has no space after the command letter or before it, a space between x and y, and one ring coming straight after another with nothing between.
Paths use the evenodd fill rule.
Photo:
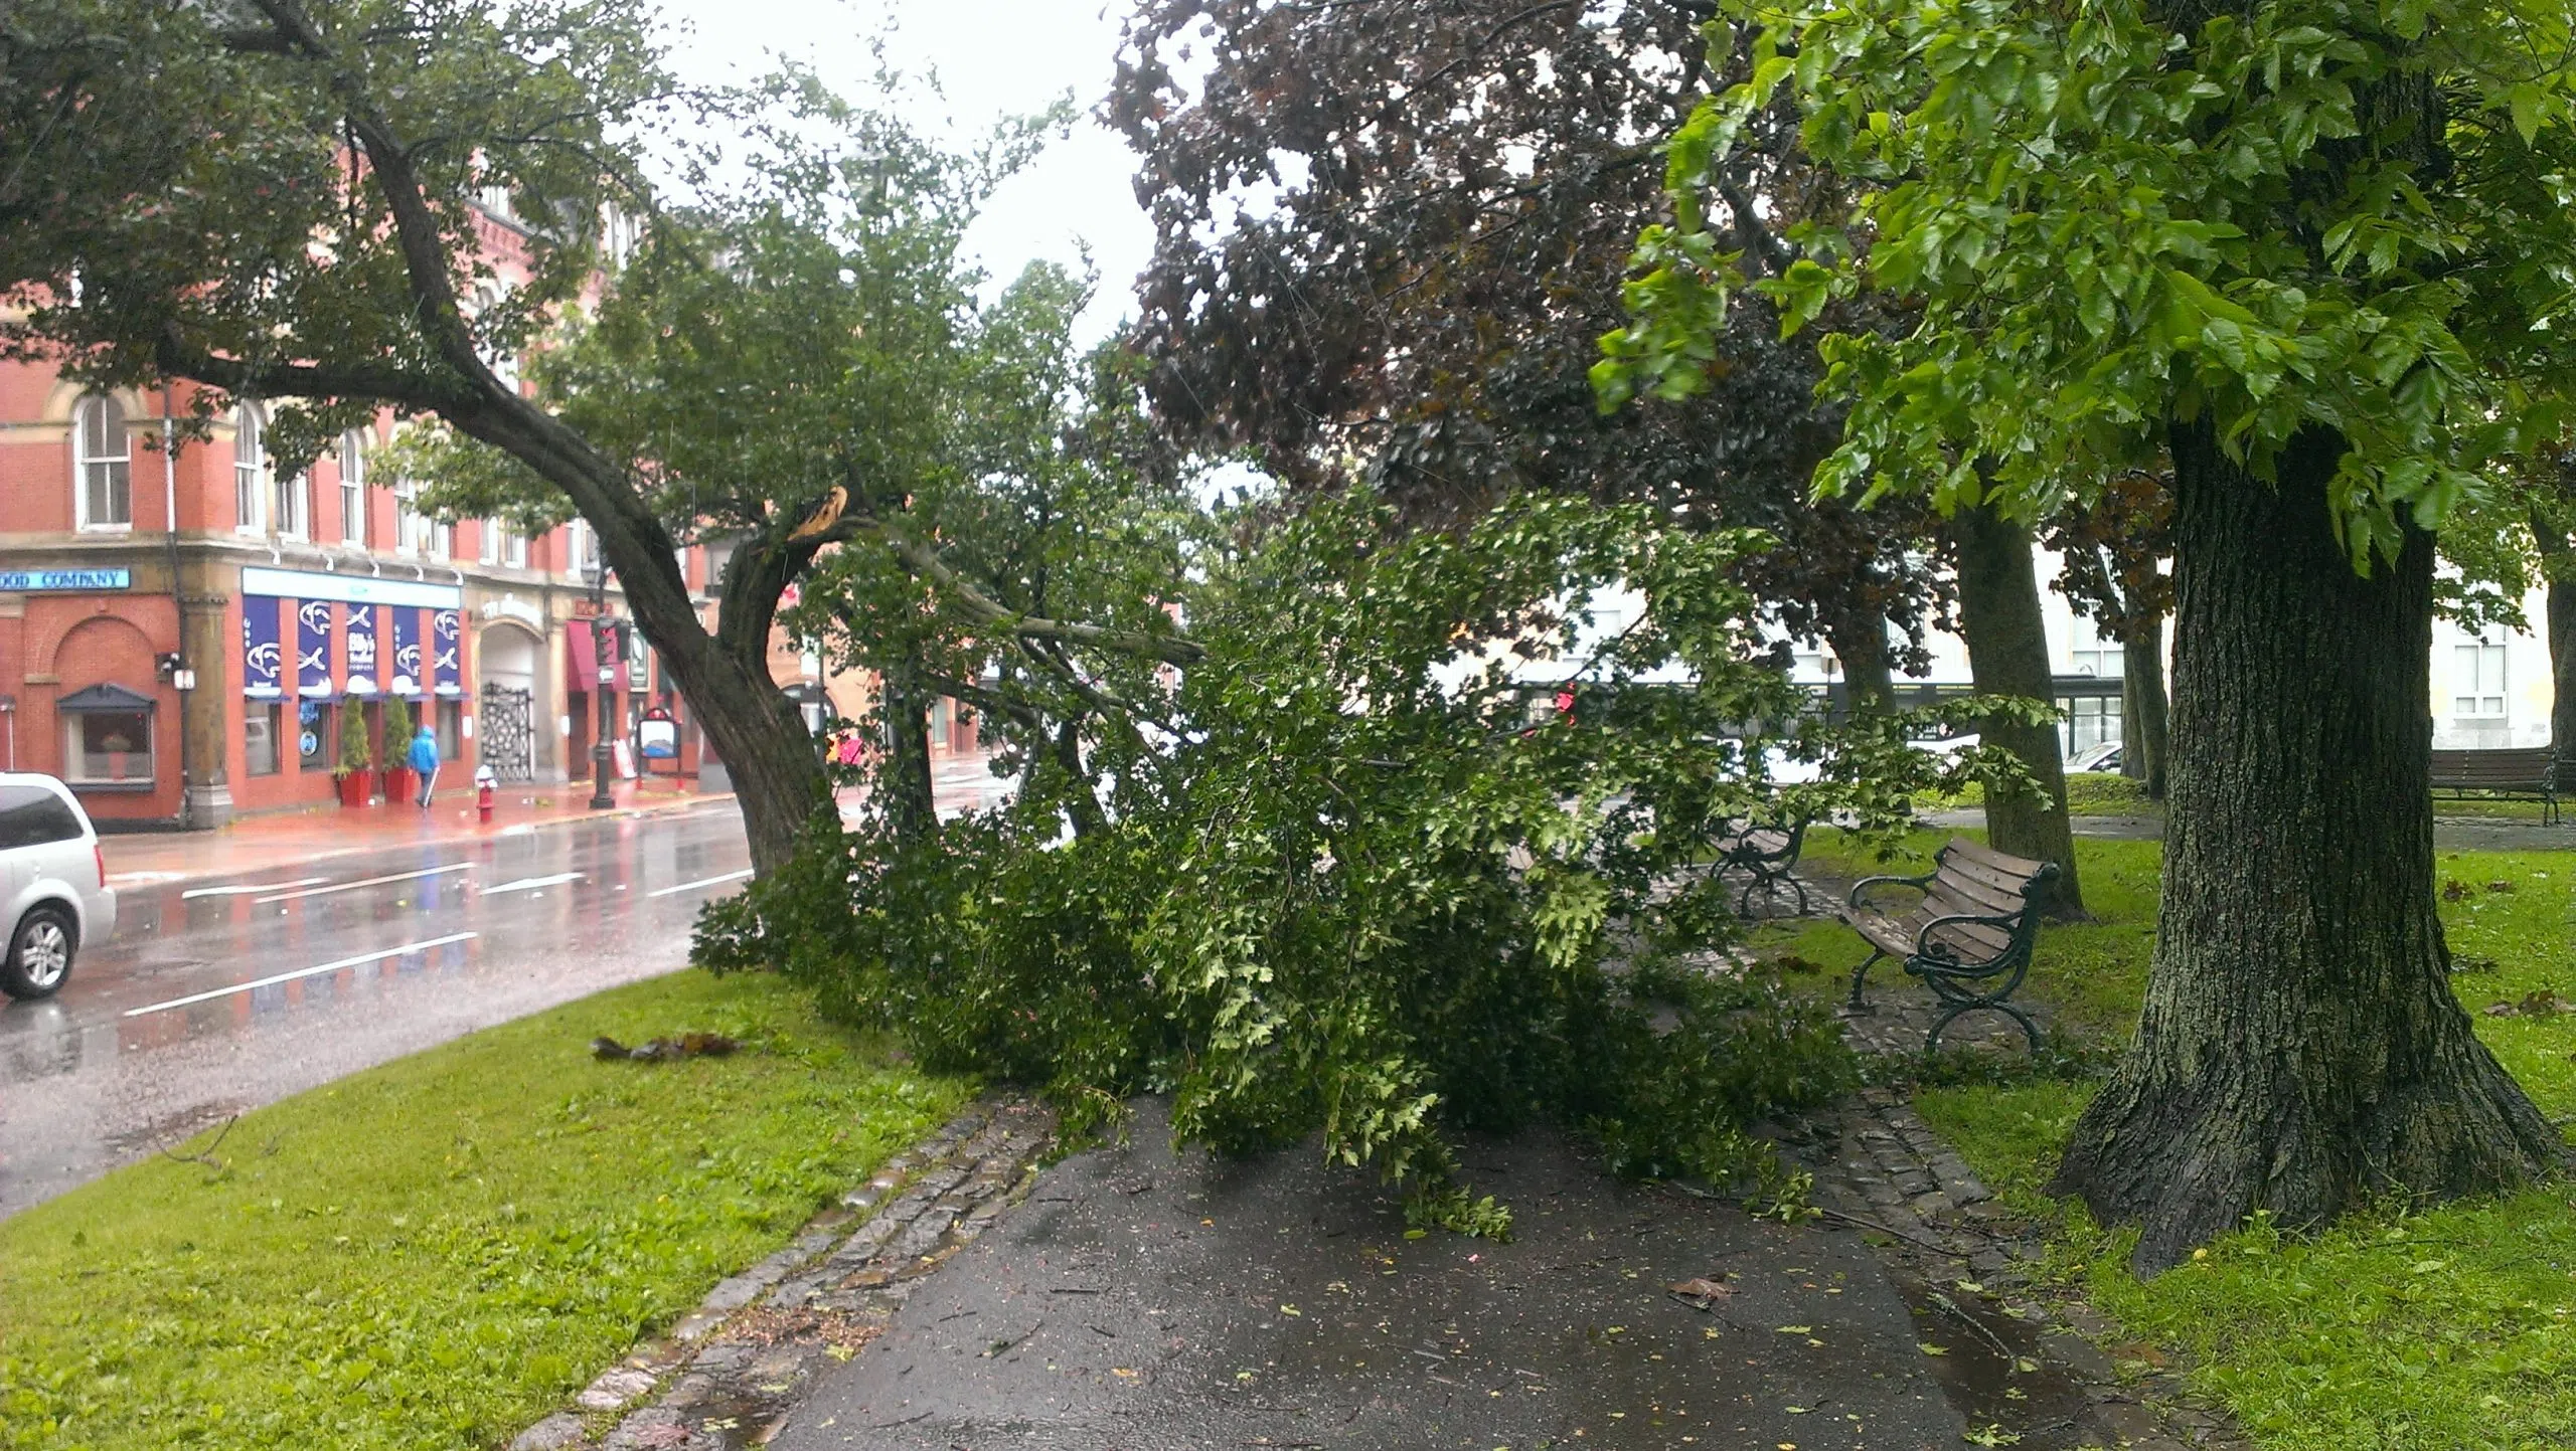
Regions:
<instances>
[{"instance_id":1,"label":"dark puddle along the path's right edge by the cobblestones","mask_svg":"<svg viewBox=\"0 0 2576 1451\"><path fill-rule=\"evenodd\" d=\"M2004 1315L1976 1291L1935 1286L1896 1266L1888 1266L1888 1281L1914 1315L1917 1338L1942 1348L1924 1361L1971 1433L2002 1428L2014 1436L2002 1441L2014 1451L2117 1443L2094 1420L2084 1382L2045 1353L2045 1328Z\"/></svg>"}]
</instances>

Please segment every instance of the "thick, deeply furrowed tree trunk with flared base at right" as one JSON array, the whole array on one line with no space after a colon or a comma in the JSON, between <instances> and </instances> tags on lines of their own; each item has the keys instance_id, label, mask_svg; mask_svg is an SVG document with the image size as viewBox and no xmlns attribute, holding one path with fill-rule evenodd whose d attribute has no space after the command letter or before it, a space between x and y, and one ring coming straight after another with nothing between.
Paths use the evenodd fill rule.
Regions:
<instances>
[{"instance_id":1,"label":"thick, deeply furrowed tree trunk with flared base at right","mask_svg":"<svg viewBox=\"0 0 2576 1451\"><path fill-rule=\"evenodd\" d=\"M2159 1271L2264 1209L2506 1189L2558 1135L2450 993L2429 790L2432 535L2360 576L2326 515L2336 435L2275 484L2172 424L2174 774L2138 1037L2056 1189Z\"/></svg>"}]
</instances>

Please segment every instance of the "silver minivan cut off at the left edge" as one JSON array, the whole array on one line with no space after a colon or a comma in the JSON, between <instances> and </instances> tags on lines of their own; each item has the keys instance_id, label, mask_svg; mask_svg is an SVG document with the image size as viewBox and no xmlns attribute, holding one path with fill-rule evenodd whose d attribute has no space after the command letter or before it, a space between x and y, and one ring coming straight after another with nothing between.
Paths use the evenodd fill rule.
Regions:
<instances>
[{"instance_id":1,"label":"silver minivan cut off at the left edge","mask_svg":"<svg viewBox=\"0 0 2576 1451\"><path fill-rule=\"evenodd\" d=\"M98 828L54 777L0 772L0 993L10 998L52 998L80 947L116 934Z\"/></svg>"}]
</instances>

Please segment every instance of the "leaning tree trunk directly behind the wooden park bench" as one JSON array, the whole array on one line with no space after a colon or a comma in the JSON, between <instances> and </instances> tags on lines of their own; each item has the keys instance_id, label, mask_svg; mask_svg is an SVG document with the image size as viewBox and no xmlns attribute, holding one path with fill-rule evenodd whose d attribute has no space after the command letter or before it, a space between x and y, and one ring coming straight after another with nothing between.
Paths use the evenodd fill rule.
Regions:
<instances>
[{"instance_id":1,"label":"leaning tree trunk directly behind the wooden park bench","mask_svg":"<svg viewBox=\"0 0 2576 1451\"><path fill-rule=\"evenodd\" d=\"M2048 617L2040 612L2040 576L2030 566L2030 530L1991 504L1960 509L1950 520L1958 545L1958 625L1968 641L1968 674L1978 695L2020 695L2048 705L2056 677L2048 669ZM1996 852L2058 864L2056 913L2081 916L2076 836L2066 821L2066 756L2056 723L2022 726L1986 718L1978 736L2022 759L2040 790L1986 787L1986 841Z\"/></svg>"}]
</instances>

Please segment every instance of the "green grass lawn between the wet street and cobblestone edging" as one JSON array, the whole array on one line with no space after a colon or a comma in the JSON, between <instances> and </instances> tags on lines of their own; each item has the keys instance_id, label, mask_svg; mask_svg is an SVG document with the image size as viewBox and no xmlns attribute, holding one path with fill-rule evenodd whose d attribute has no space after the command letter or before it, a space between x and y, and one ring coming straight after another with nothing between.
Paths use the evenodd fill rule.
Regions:
<instances>
[{"instance_id":1,"label":"green grass lawn between the wet street and cobblestone edging","mask_svg":"<svg viewBox=\"0 0 2576 1451\"><path fill-rule=\"evenodd\" d=\"M966 1091L680 972L245 1114L0 1222L0 1448L505 1446Z\"/></svg>"}]
</instances>

